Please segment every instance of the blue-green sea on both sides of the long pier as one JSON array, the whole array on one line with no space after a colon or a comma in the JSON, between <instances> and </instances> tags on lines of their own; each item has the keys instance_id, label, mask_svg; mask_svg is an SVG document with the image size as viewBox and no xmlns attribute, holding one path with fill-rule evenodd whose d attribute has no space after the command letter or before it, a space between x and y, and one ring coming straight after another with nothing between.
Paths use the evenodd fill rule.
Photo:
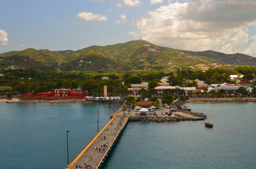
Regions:
<instances>
[{"instance_id":1,"label":"blue-green sea on both sides of the long pier","mask_svg":"<svg viewBox=\"0 0 256 169\"><path fill-rule=\"evenodd\" d=\"M114 110L120 104L114 104ZM101 169L254 169L256 103L190 103L201 121L128 122ZM110 119L112 104L0 103L0 168L64 169ZM212 128L204 122L213 122Z\"/></svg>"}]
</instances>

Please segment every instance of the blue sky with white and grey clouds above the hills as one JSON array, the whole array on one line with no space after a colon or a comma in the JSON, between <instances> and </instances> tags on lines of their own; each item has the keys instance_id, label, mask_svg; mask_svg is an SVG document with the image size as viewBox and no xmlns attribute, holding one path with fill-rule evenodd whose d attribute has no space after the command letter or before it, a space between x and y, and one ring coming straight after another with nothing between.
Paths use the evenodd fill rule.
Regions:
<instances>
[{"instance_id":1,"label":"blue sky with white and grey clouds above the hills","mask_svg":"<svg viewBox=\"0 0 256 169\"><path fill-rule=\"evenodd\" d=\"M0 0L0 53L142 37L175 49L256 57L255 21L256 0Z\"/></svg>"}]
</instances>

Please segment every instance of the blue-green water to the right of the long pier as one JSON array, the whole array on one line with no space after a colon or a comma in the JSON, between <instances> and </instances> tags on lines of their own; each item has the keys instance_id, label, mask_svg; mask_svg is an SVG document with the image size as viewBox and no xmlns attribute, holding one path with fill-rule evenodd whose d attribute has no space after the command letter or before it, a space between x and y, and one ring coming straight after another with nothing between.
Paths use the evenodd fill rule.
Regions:
<instances>
[{"instance_id":1,"label":"blue-green water to the right of the long pier","mask_svg":"<svg viewBox=\"0 0 256 169\"><path fill-rule=\"evenodd\" d=\"M128 122L101 169L256 168L256 104L190 103L207 119L178 123ZM205 127L210 120L214 127Z\"/></svg>"}]
</instances>

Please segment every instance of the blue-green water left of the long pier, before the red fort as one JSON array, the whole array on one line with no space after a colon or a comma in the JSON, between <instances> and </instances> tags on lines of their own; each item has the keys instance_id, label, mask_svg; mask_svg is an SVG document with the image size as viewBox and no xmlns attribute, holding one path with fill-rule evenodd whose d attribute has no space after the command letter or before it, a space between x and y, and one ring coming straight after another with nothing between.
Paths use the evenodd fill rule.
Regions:
<instances>
[{"instance_id":1,"label":"blue-green water left of the long pier, before the red fort","mask_svg":"<svg viewBox=\"0 0 256 169\"><path fill-rule=\"evenodd\" d=\"M118 110L121 104L114 104ZM112 104L0 103L0 168L63 169L108 123Z\"/></svg>"}]
</instances>

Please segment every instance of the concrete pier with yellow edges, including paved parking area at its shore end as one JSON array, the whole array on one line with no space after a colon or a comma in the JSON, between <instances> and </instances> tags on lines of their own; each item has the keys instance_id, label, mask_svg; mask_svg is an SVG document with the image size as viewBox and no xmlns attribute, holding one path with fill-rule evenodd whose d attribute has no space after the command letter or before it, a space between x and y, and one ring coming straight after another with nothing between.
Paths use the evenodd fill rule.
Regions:
<instances>
[{"instance_id":1,"label":"concrete pier with yellow edges, including paved parking area at its shore end","mask_svg":"<svg viewBox=\"0 0 256 169\"><path fill-rule=\"evenodd\" d=\"M173 108L176 108L173 107ZM176 109L177 110L177 109ZM191 118L192 120L204 120L204 117L198 117L198 116L193 116L187 113L183 112L173 112L171 116L167 115L162 115L161 112L169 112L169 108L164 108L163 106L159 106L159 109L154 111L158 117L175 117L175 115L180 115L184 117ZM127 112L127 116L123 120L123 125L116 130L116 134L114 134L114 129L117 127L117 123L122 122L120 119L123 117L123 105L120 107L120 109L116 112L114 116L110 117L110 121L108 124L103 127L103 129L94 137L94 139L84 148L83 151L74 159L73 162L71 162L69 165L67 165L66 169L76 169L77 166L83 166L84 167L84 162L85 164L92 165L93 168L100 168L100 166L103 164L104 160L108 156L108 153L112 149L114 143L116 142L116 139L118 136L121 134L124 126L128 122L128 120L143 120L146 117L152 117L153 111L148 111L147 116L138 116L137 114L140 113L140 111L132 111L130 114ZM154 116L153 116L154 117ZM111 126L112 123L112 126ZM107 129L108 128L108 129ZM113 133L111 134L111 131ZM106 140L100 139L106 136ZM101 148L101 145L103 146L104 144L108 144L108 147L105 148L105 151L99 152L99 148ZM94 150L94 147L98 147L98 150ZM89 160L89 158L92 157L92 161Z\"/></svg>"}]
</instances>

